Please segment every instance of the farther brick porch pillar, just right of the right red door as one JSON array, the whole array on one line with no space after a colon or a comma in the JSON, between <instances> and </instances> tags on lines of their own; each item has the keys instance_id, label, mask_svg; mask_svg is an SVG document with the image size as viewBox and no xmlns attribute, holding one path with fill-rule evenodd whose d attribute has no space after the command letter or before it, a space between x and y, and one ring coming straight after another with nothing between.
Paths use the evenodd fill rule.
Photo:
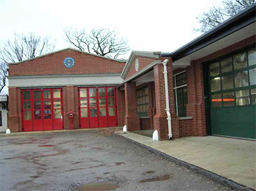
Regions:
<instances>
[{"instance_id":1,"label":"farther brick porch pillar, just right of the right red door","mask_svg":"<svg viewBox=\"0 0 256 191\"><path fill-rule=\"evenodd\" d=\"M137 114L136 84L127 82L124 84L125 91L125 125L127 131L140 130L140 118Z\"/></svg>"}]
</instances>

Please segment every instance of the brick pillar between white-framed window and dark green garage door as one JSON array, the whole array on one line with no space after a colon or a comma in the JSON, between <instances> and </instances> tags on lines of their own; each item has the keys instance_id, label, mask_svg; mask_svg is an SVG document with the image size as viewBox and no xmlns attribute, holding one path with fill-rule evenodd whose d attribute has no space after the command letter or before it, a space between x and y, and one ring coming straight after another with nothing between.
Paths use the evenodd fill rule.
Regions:
<instances>
[{"instance_id":1,"label":"brick pillar between white-framed window and dark green garage door","mask_svg":"<svg viewBox=\"0 0 256 191\"><path fill-rule=\"evenodd\" d=\"M204 76L200 61L191 61L186 69L188 79L187 116L193 117L193 135L206 135Z\"/></svg>"}]
</instances>

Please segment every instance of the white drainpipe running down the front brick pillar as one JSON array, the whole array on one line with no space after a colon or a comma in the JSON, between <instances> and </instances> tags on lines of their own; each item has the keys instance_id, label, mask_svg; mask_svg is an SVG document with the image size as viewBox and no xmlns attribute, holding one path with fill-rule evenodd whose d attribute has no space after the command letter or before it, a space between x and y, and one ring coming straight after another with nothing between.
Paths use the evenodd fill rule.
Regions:
<instances>
[{"instance_id":1,"label":"white drainpipe running down the front brick pillar","mask_svg":"<svg viewBox=\"0 0 256 191\"><path fill-rule=\"evenodd\" d=\"M163 62L164 65L164 88L165 88L165 100L166 100L166 114L167 114L167 120L168 120L168 137L169 139L172 139L172 116L170 113L170 107L169 107L169 94L168 94L168 77L167 77L167 65L168 59L165 59Z\"/></svg>"}]
</instances>

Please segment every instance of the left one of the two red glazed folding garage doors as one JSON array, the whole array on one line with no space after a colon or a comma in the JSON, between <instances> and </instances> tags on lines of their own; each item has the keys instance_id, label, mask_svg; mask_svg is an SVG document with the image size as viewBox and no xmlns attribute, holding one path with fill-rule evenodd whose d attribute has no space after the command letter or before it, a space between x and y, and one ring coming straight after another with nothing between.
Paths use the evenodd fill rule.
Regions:
<instances>
[{"instance_id":1,"label":"left one of the two red glazed folding garage doors","mask_svg":"<svg viewBox=\"0 0 256 191\"><path fill-rule=\"evenodd\" d=\"M60 88L22 90L23 131L63 129Z\"/></svg>"}]
</instances>

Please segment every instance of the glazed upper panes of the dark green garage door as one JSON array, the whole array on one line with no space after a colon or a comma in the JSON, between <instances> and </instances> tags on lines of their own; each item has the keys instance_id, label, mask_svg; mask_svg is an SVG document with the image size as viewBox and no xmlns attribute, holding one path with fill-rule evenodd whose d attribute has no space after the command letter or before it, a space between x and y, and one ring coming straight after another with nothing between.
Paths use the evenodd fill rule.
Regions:
<instances>
[{"instance_id":1,"label":"glazed upper panes of the dark green garage door","mask_svg":"<svg viewBox=\"0 0 256 191\"><path fill-rule=\"evenodd\" d=\"M255 48L215 61L209 75L212 108L255 104Z\"/></svg>"}]
</instances>

